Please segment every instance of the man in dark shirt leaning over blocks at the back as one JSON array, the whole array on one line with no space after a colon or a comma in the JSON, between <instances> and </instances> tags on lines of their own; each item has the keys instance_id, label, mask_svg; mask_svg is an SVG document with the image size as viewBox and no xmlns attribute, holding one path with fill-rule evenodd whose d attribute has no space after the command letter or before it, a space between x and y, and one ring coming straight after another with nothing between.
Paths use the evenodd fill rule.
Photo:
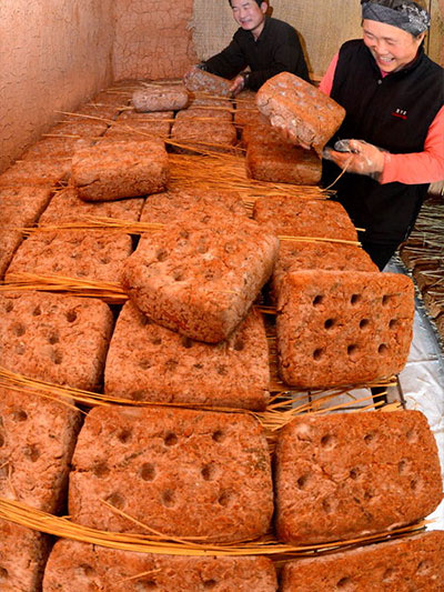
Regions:
<instances>
[{"instance_id":1,"label":"man in dark shirt leaning over blocks at the back","mask_svg":"<svg viewBox=\"0 0 444 592\"><path fill-rule=\"evenodd\" d=\"M280 72L309 80L309 70L296 31L286 22L266 17L268 3L261 0L230 0L240 28L228 48L199 68L232 79L232 92L259 90ZM244 72L246 67L251 71Z\"/></svg>"}]
</instances>

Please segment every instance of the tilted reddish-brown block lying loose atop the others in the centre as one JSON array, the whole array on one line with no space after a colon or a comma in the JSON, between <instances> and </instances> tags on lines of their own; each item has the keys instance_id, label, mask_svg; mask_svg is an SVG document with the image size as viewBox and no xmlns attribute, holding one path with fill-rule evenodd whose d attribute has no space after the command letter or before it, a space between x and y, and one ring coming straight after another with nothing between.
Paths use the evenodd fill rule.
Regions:
<instances>
[{"instance_id":1,"label":"tilted reddish-brown block lying loose atop the others in the centre","mask_svg":"<svg viewBox=\"0 0 444 592\"><path fill-rule=\"evenodd\" d=\"M122 283L150 319L181 334L225 340L270 278L279 240L253 220L213 208L196 222L147 233L127 260Z\"/></svg>"}]
</instances>

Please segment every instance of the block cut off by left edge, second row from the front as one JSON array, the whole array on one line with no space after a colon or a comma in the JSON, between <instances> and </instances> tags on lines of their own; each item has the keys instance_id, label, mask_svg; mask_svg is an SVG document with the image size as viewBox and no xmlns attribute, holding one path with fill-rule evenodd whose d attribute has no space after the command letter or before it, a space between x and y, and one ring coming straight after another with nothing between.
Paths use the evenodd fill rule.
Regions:
<instances>
[{"instance_id":1,"label":"block cut off by left edge, second row from the front","mask_svg":"<svg viewBox=\"0 0 444 592\"><path fill-rule=\"evenodd\" d=\"M79 429L71 400L0 387L0 498L61 511Z\"/></svg>"}]
</instances>

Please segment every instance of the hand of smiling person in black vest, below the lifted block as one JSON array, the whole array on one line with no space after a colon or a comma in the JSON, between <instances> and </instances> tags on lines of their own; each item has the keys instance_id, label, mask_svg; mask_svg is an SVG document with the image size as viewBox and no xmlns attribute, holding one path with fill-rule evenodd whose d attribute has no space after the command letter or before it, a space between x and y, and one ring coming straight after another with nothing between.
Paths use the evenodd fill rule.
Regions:
<instances>
[{"instance_id":1,"label":"hand of smiling person in black vest, below the lifted block","mask_svg":"<svg viewBox=\"0 0 444 592\"><path fill-rule=\"evenodd\" d=\"M377 180L384 170L384 151L364 140L340 140L334 148L325 148L322 155L346 172L367 174Z\"/></svg>"}]
</instances>

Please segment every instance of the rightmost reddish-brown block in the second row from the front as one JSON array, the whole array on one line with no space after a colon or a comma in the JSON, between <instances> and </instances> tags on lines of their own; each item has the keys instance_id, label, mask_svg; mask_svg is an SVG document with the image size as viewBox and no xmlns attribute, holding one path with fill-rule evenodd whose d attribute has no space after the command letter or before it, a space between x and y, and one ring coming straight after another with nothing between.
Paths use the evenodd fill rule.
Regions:
<instances>
[{"instance_id":1,"label":"rightmost reddish-brown block in the second row from the front","mask_svg":"<svg viewBox=\"0 0 444 592\"><path fill-rule=\"evenodd\" d=\"M418 411L297 418L275 460L278 536L292 544L392 531L443 499L435 438Z\"/></svg>"}]
</instances>

